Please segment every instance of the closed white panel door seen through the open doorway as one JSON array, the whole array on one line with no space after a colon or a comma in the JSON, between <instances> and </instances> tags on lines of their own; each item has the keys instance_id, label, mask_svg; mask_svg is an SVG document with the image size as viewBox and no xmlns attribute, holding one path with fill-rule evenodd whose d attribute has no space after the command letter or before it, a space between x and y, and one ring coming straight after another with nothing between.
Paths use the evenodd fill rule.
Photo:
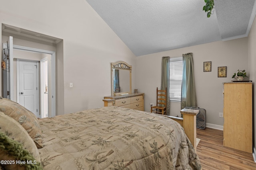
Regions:
<instances>
[{"instance_id":1,"label":"closed white panel door seen through the open doorway","mask_svg":"<svg viewBox=\"0 0 256 170\"><path fill-rule=\"evenodd\" d=\"M19 61L19 103L39 117L38 62Z\"/></svg>"}]
</instances>

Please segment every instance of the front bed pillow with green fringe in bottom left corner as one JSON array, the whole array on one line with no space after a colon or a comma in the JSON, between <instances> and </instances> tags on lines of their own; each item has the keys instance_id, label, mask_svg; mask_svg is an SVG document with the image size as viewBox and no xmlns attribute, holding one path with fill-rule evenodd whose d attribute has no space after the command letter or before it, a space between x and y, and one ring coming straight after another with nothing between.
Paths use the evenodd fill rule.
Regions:
<instances>
[{"instance_id":1,"label":"front bed pillow with green fringe in bottom left corner","mask_svg":"<svg viewBox=\"0 0 256 170\"><path fill-rule=\"evenodd\" d=\"M6 170L20 170L34 166L38 166L40 169L41 162L36 144L26 130L16 120L3 112L0 112L0 160L12 161L13 164L2 164L1 162L0 166ZM16 160L26 163L30 161L31 164L20 166Z\"/></svg>"}]
</instances>

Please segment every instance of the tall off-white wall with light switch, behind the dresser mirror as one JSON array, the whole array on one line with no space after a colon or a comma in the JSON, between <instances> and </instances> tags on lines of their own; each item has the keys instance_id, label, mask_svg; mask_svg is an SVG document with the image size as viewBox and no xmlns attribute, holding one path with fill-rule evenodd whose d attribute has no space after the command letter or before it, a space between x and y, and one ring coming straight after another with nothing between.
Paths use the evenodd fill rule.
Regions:
<instances>
[{"instance_id":1,"label":"tall off-white wall with light switch, behind the dresser mirror","mask_svg":"<svg viewBox=\"0 0 256 170\"><path fill-rule=\"evenodd\" d=\"M136 56L85 0L3 1L0 23L63 39L63 59L56 61L57 81L63 76L57 114L104 106L103 96L111 95L111 62L132 65L136 88Z\"/></svg>"}]
</instances>

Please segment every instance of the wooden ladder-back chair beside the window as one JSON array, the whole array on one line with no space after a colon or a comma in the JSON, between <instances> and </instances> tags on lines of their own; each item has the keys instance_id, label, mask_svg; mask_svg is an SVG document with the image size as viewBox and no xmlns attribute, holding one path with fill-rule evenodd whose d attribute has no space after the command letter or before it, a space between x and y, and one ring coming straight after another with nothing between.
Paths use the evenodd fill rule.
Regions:
<instances>
[{"instance_id":1,"label":"wooden ladder-back chair beside the window","mask_svg":"<svg viewBox=\"0 0 256 170\"><path fill-rule=\"evenodd\" d=\"M151 113L166 115L167 88L158 90L156 88L156 106L151 106Z\"/></svg>"}]
</instances>

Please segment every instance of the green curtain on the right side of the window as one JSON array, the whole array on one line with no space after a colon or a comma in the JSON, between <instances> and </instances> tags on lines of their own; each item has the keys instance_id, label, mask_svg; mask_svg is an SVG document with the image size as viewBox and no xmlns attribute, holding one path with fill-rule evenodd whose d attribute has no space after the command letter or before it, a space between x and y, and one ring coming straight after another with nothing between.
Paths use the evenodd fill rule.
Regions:
<instances>
[{"instance_id":1,"label":"green curtain on the right side of the window","mask_svg":"<svg viewBox=\"0 0 256 170\"><path fill-rule=\"evenodd\" d=\"M182 54L182 58L183 73L180 106L181 109L184 109L184 107L197 107L192 53Z\"/></svg>"}]
</instances>

